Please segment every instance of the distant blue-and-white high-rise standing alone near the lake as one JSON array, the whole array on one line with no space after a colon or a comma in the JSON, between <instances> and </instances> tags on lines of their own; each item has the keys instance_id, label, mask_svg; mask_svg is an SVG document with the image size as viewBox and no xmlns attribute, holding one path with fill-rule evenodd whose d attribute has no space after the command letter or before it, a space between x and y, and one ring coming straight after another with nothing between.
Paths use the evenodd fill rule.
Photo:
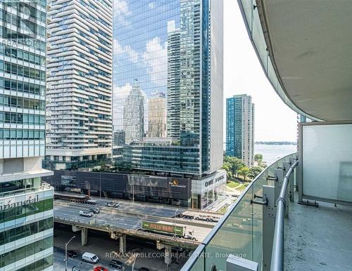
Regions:
<instances>
[{"instance_id":1,"label":"distant blue-and-white high-rise standing alone near the lake","mask_svg":"<svg viewBox=\"0 0 352 271\"><path fill-rule=\"evenodd\" d=\"M249 95L226 99L226 155L253 166L254 104Z\"/></svg>"}]
</instances>

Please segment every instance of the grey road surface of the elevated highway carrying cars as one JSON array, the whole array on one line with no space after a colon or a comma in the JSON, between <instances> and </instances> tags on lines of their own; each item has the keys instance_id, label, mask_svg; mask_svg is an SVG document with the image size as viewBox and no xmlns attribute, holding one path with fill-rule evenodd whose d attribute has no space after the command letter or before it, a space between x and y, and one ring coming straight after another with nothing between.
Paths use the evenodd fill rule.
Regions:
<instances>
[{"instance_id":1,"label":"grey road surface of the elevated highway carrying cars","mask_svg":"<svg viewBox=\"0 0 352 271\"><path fill-rule=\"evenodd\" d=\"M175 209L168 206L155 206L151 204L141 204L140 202L126 202L119 201L119 207L117 209L106 207L106 203L109 200L101 199L98 207L101 208L101 213L92 216L92 218L86 218L80 216L80 210L87 210L93 206L87 204L73 203L70 201L56 200L54 204L54 216L58 216L65 219L80 220L83 223L99 224L99 225L112 225L128 230L137 230L141 228L142 220L149 220L153 222L165 223L165 219L168 218L169 222L175 225L185 226L186 232L194 232L194 237L198 239L198 242L208 235L211 228L215 223L206 223L201 221L190 222L181 219L172 219L175 213L182 213L185 209ZM174 222L175 221L175 222ZM193 225L187 225L193 224ZM194 225L195 224L195 225Z\"/></svg>"}]
</instances>

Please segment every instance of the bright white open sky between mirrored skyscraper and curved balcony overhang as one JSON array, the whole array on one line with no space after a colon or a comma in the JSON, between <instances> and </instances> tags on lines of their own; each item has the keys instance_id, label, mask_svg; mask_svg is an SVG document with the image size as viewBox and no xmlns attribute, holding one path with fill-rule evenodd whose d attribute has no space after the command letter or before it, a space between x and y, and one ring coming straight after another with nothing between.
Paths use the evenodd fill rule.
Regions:
<instances>
[{"instance_id":1,"label":"bright white open sky between mirrored skyscraper and curved balcony overhang","mask_svg":"<svg viewBox=\"0 0 352 271\"><path fill-rule=\"evenodd\" d=\"M224 0L224 127L225 99L237 94L252 96L255 141L296 141L296 112L265 77L237 1Z\"/></svg>"}]
</instances>

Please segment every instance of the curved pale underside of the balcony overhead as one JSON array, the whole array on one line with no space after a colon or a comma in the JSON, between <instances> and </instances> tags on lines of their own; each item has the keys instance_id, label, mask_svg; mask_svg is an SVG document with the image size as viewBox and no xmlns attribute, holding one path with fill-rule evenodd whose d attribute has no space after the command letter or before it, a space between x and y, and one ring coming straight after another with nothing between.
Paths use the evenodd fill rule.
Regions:
<instances>
[{"instance_id":1,"label":"curved pale underside of the balcony overhead","mask_svg":"<svg viewBox=\"0 0 352 271\"><path fill-rule=\"evenodd\" d=\"M289 99L318 119L351 120L352 1L256 2Z\"/></svg>"}]
</instances>

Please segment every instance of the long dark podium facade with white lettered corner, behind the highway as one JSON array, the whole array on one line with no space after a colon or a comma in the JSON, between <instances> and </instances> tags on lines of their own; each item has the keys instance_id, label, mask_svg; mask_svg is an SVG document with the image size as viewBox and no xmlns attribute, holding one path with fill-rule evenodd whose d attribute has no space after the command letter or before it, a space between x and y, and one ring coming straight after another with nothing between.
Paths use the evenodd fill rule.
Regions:
<instances>
[{"instance_id":1,"label":"long dark podium facade with white lettered corner, behind the highway","mask_svg":"<svg viewBox=\"0 0 352 271\"><path fill-rule=\"evenodd\" d=\"M89 180L89 183L87 182ZM73 188L82 193L118 199L205 209L226 192L226 172L217 171L204 180L180 176L147 176L125 173L55 171L46 178L58 191Z\"/></svg>"}]
</instances>

